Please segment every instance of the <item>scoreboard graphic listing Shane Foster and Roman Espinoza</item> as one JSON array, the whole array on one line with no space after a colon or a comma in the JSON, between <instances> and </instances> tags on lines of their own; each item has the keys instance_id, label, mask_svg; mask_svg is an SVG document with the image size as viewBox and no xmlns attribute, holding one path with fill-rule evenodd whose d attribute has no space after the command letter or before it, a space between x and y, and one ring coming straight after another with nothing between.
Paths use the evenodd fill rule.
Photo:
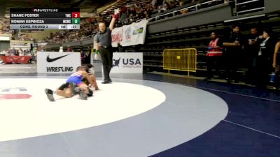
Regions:
<instances>
[{"instance_id":1,"label":"scoreboard graphic listing Shane Foster and Roman Espinoza","mask_svg":"<svg viewBox=\"0 0 280 157\"><path fill-rule=\"evenodd\" d=\"M10 8L10 29L80 29L80 9Z\"/></svg>"}]
</instances>

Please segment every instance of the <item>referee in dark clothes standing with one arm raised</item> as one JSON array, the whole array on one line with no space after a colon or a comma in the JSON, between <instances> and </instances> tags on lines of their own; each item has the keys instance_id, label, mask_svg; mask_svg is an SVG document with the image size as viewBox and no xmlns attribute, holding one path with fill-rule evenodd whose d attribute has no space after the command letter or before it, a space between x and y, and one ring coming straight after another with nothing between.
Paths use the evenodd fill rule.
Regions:
<instances>
[{"instance_id":1,"label":"referee in dark clothes standing with one arm raised","mask_svg":"<svg viewBox=\"0 0 280 157\"><path fill-rule=\"evenodd\" d=\"M110 71L113 64L111 31L113 30L113 26L115 25L118 13L120 13L120 10L116 9L109 27L106 27L106 24L104 22L100 22L98 24L99 33L97 33L97 47L96 47L97 50L95 55L97 55L100 52L100 56L102 59L103 73L104 73L104 82L102 82L102 84L109 84L112 82L110 78Z\"/></svg>"}]
</instances>

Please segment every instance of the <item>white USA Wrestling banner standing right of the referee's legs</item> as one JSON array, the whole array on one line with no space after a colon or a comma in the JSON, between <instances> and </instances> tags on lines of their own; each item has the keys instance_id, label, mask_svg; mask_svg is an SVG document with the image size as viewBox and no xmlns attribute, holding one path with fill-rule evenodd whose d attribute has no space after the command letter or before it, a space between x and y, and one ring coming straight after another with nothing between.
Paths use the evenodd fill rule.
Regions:
<instances>
[{"instance_id":1,"label":"white USA Wrestling banner standing right of the referee's legs","mask_svg":"<svg viewBox=\"0 0 280 157\"><path fill-rule=\"evenodd\" d=\"M113 53L111 73L143 73L143 53Z\"/></svg>"}]
</instances>

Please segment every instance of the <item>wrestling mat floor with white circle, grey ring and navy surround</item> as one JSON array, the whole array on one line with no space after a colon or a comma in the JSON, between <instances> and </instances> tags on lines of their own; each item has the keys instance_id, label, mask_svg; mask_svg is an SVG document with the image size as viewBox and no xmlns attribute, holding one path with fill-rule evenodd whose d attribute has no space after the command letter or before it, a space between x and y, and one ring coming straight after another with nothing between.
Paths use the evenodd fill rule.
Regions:
<instances>
[{"instance_id":1,"label":"wrestling mat floor with white circle, grey ring and navy surround","mask_svg":"<svg viewBox=\"0 0 280 157\"><path fill-rule=\"evenodd\" d=\"M101 84L97 73L93 97L52 103L43 89L67 75L5 69L0 156L280 156L279 91L150 73L112 74L112 84ZM4 99L7 91L31 98Z\"/></svg>"}]
</instances>

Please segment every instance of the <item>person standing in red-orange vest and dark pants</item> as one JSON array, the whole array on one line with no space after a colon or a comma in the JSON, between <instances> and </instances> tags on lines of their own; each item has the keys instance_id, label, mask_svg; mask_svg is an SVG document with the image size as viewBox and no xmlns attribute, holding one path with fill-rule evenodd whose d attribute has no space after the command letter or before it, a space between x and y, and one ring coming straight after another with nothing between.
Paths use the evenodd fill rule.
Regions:
<instances>
[{"instance_id":1,"label":"person standing in red-orange vest and dark pants","mask_svg":"<svg viewBox=\"0 0 280 157\"><path fill-rule=\"evenodd\" d=\"M220 70L221 57L223 56L223 43L220 38L218 38L216 32L211 33L211 41L209 43L207 52L207 80L213 77L212 69L214 63L218 63L216 70Z\"/></svg>"}]
</instances>

